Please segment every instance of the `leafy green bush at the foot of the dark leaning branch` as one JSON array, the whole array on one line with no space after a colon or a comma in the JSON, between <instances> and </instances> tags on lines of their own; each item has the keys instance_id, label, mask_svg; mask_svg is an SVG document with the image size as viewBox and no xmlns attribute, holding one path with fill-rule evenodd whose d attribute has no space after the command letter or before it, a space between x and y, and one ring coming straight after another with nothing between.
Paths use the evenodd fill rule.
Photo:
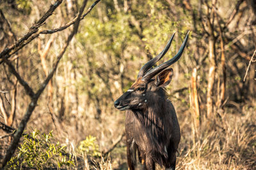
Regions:
<instances>
[{"instance_id":1,"label":"leafy green bush at the foot of the dark leaning branch","mask_svg":"<svg viewBox=\"0 0 256 170\"><path fill-rule=\"evenodd\" d=\"M66 156L66 146L61 146L59 142L54 143L53 140L52 131L49 134L40 134L35 130L24 135L19 151L8 162L7 169L74 166L72 156Z\"/></svg>"}]
</instances>

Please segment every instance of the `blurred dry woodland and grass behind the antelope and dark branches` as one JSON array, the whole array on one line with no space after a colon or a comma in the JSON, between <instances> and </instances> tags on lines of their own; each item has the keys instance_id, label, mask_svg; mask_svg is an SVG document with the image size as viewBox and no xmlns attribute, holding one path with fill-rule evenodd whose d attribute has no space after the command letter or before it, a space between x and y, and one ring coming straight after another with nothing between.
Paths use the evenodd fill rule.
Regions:
<instances>
[{"instance_id":1,"label":"blurred dry woodland and grass behind the antelope and dark branches","mask_svg":"<svg viewBox=\"0 0 256 170\"><path fill-rule=\"evenodd\" d=\"M0 50L22 37L53 3L0 1ZM67 24L81 3L63 1L40 29ZM173 32L172 46L159 64L178 52L188 31L188 45L172 66L166 89L182 135L177 169L255 169L255 0L100 1L81 20L25 133L38 139L49 135L51 145L65 146L71 163L66 160L59 167L127 169L125 112L116 110L113 101L129 89L140 67L163 50ZM40 34L10 58L33 89L46 78L69 32ZM0 122L17 129L30 99L4 63L0 90ZM6 134L0 129L0 158L12 141ZM28 136L21 139L10 165L44 167L29 166L33 160L25 154L26 140ZM42 155L35 156L44 162Z\"/></svg>"}]
</instances>

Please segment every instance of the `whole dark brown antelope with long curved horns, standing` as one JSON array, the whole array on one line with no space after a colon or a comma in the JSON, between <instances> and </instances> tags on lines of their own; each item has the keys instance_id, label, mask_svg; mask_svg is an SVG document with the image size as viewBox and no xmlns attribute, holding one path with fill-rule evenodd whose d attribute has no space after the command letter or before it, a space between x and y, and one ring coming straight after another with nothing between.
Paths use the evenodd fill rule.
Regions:
<instances>
[{"instance_id":1,"label":"whole dark brown antelope with long curved horns, standing","mask_svg":"<svg viewBox=\"0 0 256 170\"><path fill-rule=\"evenodd\" d=\"M156 163L166 169L175 169L180 127L164 87L172 80L173 69L168 67L179 60L188 34L175 57L153 68L170 48L173 34L164 50L141 67L135 83L114 103L118 110L127 110L125 131L130 170L136 166L137 151L144 169L155 169Z\"/></svg>"}]
</instances>

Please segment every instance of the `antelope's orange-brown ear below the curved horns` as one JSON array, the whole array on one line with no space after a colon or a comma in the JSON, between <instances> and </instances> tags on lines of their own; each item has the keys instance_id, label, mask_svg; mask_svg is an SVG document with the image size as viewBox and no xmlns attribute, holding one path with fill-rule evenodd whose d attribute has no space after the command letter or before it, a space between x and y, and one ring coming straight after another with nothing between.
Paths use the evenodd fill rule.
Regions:
<instances>
[{"instance_id":1,"label":"antelope's orange-brown ear below the curved horns","mask_svg":"<svg viewBox=\"0 0 256 170\"><path fill-rule=\"evenodd\" d=\"M157 87L166 87L172 80L173 69L164 69L156 78Z\"/></svg>"}]
</instances>

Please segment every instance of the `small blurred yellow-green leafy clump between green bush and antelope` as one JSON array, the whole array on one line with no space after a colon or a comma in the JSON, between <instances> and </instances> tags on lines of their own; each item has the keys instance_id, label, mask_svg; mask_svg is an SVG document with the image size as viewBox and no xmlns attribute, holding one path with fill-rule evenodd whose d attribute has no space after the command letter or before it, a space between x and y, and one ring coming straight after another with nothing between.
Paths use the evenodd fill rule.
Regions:
<instances>
[{"instance_id":1,"label":"small blurred yellow-green leafy clump between green bush and antelope","mask_svg":"<svg viewBox=\"0 0 256 170\"><path fill-rule=\"evenodd\" d=\"M100 157L99 145L96 141L96 137L87 136L85 140L80 142L79 151L92 157Z\"/></svg>"}]
</instances>

